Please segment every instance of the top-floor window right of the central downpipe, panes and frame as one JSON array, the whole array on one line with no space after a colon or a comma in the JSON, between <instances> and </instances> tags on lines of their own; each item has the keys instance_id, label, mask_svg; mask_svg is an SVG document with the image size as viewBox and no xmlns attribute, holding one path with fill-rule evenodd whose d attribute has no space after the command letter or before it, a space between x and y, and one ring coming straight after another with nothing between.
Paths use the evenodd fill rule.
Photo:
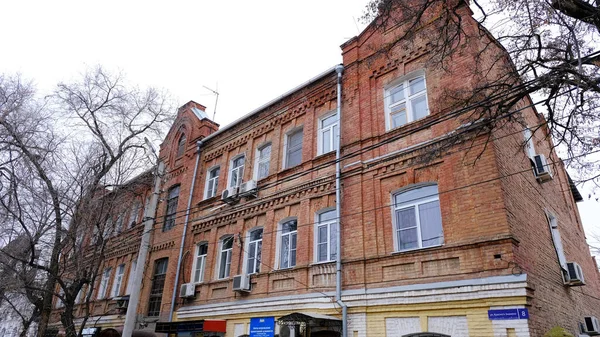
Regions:
<instances>
[{"instance_id":1,"label":"top-floor window right of the central downpipe, panes and frame","mask_svg":"<svg viewBox=\"0 0 600 337\"><path fill-rule=\"evenodd\" d=\"M394 129L429 114L423 75L411 76L385 90L387 127Z\"/></svg>"}]
</instances>

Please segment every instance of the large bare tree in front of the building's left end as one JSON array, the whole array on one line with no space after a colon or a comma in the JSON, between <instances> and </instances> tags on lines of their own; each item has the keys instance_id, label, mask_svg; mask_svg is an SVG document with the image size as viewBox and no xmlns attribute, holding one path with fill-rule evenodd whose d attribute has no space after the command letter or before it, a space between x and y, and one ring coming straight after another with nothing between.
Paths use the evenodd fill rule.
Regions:
<instances>
[{"instance_id":1,"label":"large bare tree in front of the building's left end","mask_svg":"<svg viewBox=\"0 0 600 337\"><path fill-rule=\"evenodd\" d=\"M100 67L42 100L19 77L0 76L2 230L30 247L27 256L1 254L43 276L41 286L25 287L38 335L48 326L53 296L64 306L66 335L81 332L73 308L84 287L89 300L115 230L108 219L122 207L115 197L122 193L114 192L148 166L143 137L160 137L172 111L166 93L138 89Z\"/></svg>"}]
</instances>

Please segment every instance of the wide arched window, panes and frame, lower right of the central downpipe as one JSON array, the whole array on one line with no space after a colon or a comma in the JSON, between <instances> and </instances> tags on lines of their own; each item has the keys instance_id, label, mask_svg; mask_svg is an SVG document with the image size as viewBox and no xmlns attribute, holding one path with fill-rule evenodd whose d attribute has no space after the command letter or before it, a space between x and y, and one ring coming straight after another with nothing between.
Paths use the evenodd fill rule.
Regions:
<instances>
[{"instance_id":1,"label":"wide arched window, panes and frame, lower right of the central downpipe","mask_svg":"<svg viewBox=\"0 0 600 337\"><path fill-rule=\"evenodd\" d=\"M394 195L394 237L398 251L438 246L444 242L437 185Z\"/></svg>"}]
</instances>

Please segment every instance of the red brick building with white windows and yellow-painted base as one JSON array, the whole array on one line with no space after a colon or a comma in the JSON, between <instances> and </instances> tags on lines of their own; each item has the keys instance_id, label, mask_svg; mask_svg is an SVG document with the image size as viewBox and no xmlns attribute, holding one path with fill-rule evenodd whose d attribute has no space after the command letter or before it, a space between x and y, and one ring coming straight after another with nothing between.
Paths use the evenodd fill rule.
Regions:
<instances>
[{"instance_id":1,"label":"red brick building with white windows and yellow-painted base","mask_svg":"<svg viewBox=\"0 0 600 337\"><path fill-rule=\"evenodd\" d=\"M427 41L380 52L401 34L371 25L346 42L341 92L332 68L221 129L200 104L180 108L160 150L140 327L524 337L578 335L600 316L581 196L543 117L520 102L522 123L474 136L442 92L472 86L457 74L481 46L441 68Z\"/></svg>"}]
</instances>

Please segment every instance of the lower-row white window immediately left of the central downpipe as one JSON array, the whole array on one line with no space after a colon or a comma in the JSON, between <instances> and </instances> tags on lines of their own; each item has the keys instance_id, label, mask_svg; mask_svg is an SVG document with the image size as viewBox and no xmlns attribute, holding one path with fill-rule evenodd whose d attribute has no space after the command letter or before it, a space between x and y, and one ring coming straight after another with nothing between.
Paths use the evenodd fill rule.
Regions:
<instances>
[{"instance_id":1,"label":"lower-row white window immediately left of the central downpipe","mask_svg":"<svg viewBox=\"0 0 600 337\"><path fill-rule=\"evenodd\" d=\"M337 251L337 217L335 210L318 214L315 231L316 262L327 262L336 259Z\"/></svg>"}]
</instances>

